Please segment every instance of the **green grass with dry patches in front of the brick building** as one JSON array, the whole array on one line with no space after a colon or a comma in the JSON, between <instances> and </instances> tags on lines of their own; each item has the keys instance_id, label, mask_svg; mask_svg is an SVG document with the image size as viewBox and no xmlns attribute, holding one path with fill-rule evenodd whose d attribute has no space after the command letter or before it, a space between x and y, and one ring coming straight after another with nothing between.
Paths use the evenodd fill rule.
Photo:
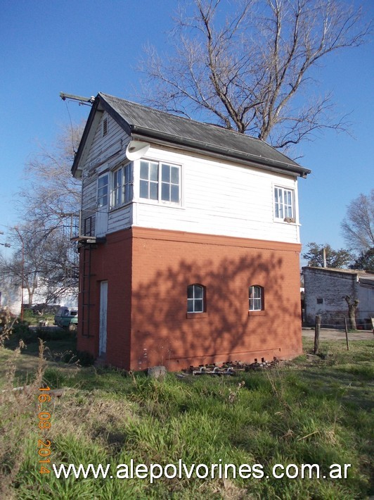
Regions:
<instances>
[{"instance_id":1,"label":"green grass with dry patches in front of the brick building","mask_svg":"<svg viewBox=\"0 0 374 500\"><path fill-rule=\"evenodd\" d=\"M50 363L44 382L51 389L65 388L60 399L43 404L52 415L51 429L37 427L37 387L28 406L18 408L20 395L12 395L1 406L0 437L9 419L14 439L18 437L8 453L8 469L2 472L6 480L13 470L5 497L368 498L374 493L370 476L374 343L355 341L347 351L342 342L322 341L321 356L310 357L312 344L305 341L306 354L288 365L235 377L168 374L160 382L141 373L128 376L122 370L93 367L68 370ZM0 351L0 356L9 362L13 354ZM10 411L5 420L4 408ZM188 468L220 461L237 466L259 463L270 476L276 463L318 463L324 475L333 463L352 466L345 480L193 476L160 478L153 485L146 479L58 480L53 473L39 473L37 442L42 437L51 441L53 463L110 463L114 472L117 464L129 464L131 458L148 465L177 464L181 459Z\"/></svg>"}]
</instances>

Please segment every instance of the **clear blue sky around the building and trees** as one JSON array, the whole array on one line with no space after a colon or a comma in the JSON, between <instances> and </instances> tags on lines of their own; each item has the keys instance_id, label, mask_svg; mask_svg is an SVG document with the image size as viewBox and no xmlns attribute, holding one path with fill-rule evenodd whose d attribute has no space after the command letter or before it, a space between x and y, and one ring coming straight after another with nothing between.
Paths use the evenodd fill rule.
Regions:
<instances>
[{"instance_id":1,"label":"clear blue sky around the building and trees","mask_svg":"<svg viewBox=\"0 0 374 500\"><path fill-rule=\"evenodd\" d=\"M373 18L374 2L359 3ZM136 100L143 46L150 42L165 51L175 7L173 0L2 1L0 230L20 221L15 203L28 158L69 123L59 93ZM313 170L299 181L304 244L345 246L340 223L347 204L374 187L373 62L371 42L330 56L316 74L321 92L333 92L337 111L351 113L352 135L326 132L297 147L299 163ZM73 121L88 115L88 106L67 106Z\"/></svg>"}]
</instances>

